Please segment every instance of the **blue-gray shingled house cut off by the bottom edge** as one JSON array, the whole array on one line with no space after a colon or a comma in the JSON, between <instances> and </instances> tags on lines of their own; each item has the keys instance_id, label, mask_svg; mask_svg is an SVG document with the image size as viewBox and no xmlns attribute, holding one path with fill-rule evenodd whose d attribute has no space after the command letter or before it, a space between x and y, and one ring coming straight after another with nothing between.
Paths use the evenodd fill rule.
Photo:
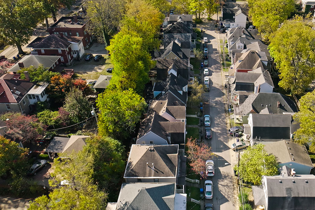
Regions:
<instances>
[{"instance_id":1,"label":"blue-gray shingled house cut off by the bottom edge","mask_svg":"<svg viewBox=\"0 0 315 210\"><path fill-rule=\"evenodd\" d=\"M175 183L123 183L117 203L106 210L186 210L187 194L175 190Z\"/></svg>"}]
</instances>

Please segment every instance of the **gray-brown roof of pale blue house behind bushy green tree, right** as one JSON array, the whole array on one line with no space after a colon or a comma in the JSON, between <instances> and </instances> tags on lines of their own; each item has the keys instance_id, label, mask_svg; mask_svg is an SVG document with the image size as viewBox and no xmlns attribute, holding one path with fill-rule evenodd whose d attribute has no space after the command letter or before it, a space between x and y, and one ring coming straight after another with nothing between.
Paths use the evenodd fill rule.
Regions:
<instances>
[{"instance_id":1,"label":"gray-brown roof of pale blue house behind bushy green tree, right","mask_svg":"<svg viewBox=\"0 0 315 210\"><path fill-rule=\"evenodd\" d=\"M268 143L264 148L268 153L278 157L278 161L280 163L296 162L302 165L313 167L310 156L308 155L304 145L299 145L291 141L283 140ZM294 161L292 160L292 157L294 157Z\"/></svg>"}]
</instances>

